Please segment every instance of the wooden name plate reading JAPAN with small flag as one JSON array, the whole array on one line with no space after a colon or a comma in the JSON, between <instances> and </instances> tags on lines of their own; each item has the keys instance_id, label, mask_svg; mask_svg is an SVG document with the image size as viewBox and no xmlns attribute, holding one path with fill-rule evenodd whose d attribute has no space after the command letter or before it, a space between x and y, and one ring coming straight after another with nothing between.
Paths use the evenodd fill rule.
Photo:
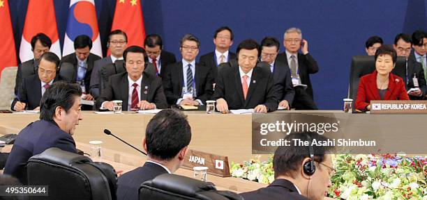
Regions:
<instances>
[{"instance_id":1,"label":"wooden name plate reading JAPAN with small flag","mask_svg":"<svg viewBox=\"0 0 427 200\"><path fill-rule=\"evenodd\" d=\"M188 149L182 167L190 170L193 170L193 167L208 167L208 174L230 177L230 167L228 166L227 156L218 156L212 153Z\"/></svg>"}]
</instances>

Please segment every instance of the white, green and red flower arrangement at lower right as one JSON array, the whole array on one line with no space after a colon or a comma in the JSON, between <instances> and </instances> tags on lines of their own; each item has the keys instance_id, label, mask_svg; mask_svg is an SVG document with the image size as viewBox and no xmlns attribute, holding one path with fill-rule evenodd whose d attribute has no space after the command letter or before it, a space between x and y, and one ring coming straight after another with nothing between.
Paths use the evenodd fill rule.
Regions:
<instances>
[{"instance_id":1,"label":"white, green and red flower arrangement at lower right","mask_svg":"<svg viewBox=\"0 0 427 200\"><path fill-rule=\"evenodd\" d=\"M427 200L427 157L370 154L333 156L336 173L329 197L336 199ZM269 184L274 181L272 157L232 163L234 177Z\"/></svg>"}]
</instances>

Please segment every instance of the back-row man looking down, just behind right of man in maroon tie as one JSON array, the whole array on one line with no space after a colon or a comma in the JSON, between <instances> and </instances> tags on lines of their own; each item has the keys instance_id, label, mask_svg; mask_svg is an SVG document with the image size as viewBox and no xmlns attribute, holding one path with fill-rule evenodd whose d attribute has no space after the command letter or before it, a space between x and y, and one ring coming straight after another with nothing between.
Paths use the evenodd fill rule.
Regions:
<instances>
[{"instance_id":1,"label":"back-row man looking down, just behind right of man in maroon tie","mask_svg":"<svg viewBox=\"0 0 427 200\"><path fill-rule=\"evenodd\" d=\"M163 49L163 41L160 35L147 35L144 40L144 49L147 51L147 61L153 63L158 76L163 77L167 65L177 63L174 53Z\"/></svg>"}]
</instances>

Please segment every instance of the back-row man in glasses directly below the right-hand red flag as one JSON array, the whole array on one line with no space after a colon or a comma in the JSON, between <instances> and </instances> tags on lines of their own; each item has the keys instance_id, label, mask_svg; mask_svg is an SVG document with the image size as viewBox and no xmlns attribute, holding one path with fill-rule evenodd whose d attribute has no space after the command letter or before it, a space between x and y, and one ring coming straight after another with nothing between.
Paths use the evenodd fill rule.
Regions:
<instances>
[{"instance_id":1,"label":"back-row man in glasses directly below the right-hand red flag","mask_svg":"<svg viewBox=\"0 0 427 200\"><path fill-rule=\"evenodd\" d=\"M107 48L110 49L111 55L96 60L95 63L93 63L89 88L89 93L92 94L93 99L98 99L100 95L101 68L105 65L114 63L116 60L123 60L123 51L126 49L127 44L128 36L119 29L111 31L110 35L108 35Z\"/></svg>"}]
</instances>

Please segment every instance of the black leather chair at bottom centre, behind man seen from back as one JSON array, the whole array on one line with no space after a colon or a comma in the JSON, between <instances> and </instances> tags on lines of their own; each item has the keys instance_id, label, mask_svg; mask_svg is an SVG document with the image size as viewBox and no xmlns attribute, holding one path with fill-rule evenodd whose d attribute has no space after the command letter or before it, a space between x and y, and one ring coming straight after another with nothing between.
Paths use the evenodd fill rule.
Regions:
<instances>
[{"instance_id":1,"label":"black leather chair at bottom centre, behind man seen from back","mask_svg":"<svg viewBox=\"0 0 427 200\"><path fill-rule=\"evenodd\" d=\"M161 174L151 181L142 183L139 190L142 199L203 199L203 200L243 200L239 194L218 191L212 183L175 174Z\"/></svg>"}]
</instances>

